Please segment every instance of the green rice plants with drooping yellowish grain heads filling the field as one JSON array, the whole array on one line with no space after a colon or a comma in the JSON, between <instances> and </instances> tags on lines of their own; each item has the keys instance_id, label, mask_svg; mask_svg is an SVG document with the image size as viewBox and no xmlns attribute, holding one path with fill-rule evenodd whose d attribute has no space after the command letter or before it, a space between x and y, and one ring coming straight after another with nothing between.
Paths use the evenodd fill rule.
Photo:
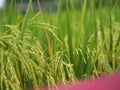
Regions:
<instances>
[{"instance_id":1,"label":"green rice plants with drooping yellowish grain heads filling the field","mask_svg":"<svg viewBox=\"0 0 120 90\"><path fill-rule=\"evenodd\" d=\"M80 9L25 15L13 3L0 11L1 90L23 90L74 82L120 70L120 7L116 1L96 8L84 0ZM78 2L79 4L79 2Z\"/></svg>"}]
</instances>

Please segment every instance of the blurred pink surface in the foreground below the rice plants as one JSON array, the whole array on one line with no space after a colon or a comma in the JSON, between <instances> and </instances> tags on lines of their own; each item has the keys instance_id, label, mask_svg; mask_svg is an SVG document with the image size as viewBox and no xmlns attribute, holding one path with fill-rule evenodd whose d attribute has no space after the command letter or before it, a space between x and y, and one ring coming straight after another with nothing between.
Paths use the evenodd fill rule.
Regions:
<instances>
[{"instance_id":1,"label":"blurred pink surface in the foreground below the rice plants","mask_svg":"<svg viewBox=\"0 0 120 90\"><path fill-rule=\"evenodd\" d=\"M120 90L120 72L101 77L100 79L89 79L70 85L46 87L38 90Z\"/></svg>"}]
</instances>

